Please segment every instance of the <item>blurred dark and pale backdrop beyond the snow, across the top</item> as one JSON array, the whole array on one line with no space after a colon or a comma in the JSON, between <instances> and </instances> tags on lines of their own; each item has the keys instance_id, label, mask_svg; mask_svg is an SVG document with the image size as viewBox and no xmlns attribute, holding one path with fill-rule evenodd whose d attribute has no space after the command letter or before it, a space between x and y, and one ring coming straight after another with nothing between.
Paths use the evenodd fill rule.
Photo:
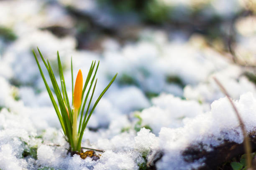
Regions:
<instances>
[{"instance_id":1,"label":"blurred dark and pale backdrop beyond the snow, across the top","mask_svg":"<svg viewBox=\"0 0 256 170\"><path fill-rule=\"evenodd\" d=\"M34 29L72 36L76 49L93 51L102 51L107 39L122 46L150 41L143 34L159 31L168 40L195 38L230 52L234 62L255 64L255 0L1 0L0 8L1 54Z\"/></svg>"}]
</instances>

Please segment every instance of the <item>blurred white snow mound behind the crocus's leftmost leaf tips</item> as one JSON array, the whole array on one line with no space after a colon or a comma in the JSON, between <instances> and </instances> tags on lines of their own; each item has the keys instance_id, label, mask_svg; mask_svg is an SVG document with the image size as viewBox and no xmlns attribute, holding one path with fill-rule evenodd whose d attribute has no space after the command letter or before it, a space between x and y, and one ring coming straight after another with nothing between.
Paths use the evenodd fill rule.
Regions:
<instances>
[{"instance_id":1,"label":"blurred white snow mound behind the crocus's leftmost leaf tips","mask_svg":"<svg viewBox=\"0 0 256 170\"><path fill-rule=\"evenodd\" d=\"M47 42L47 45L44 42ZM60 56L64 59L65 56L70 56L69 52L74 50L75 45L76 42L72 37L65 37L59 40L48 31L36 30L29 32L29 36L22 35L10 45L3 55L3 61L11 65L13 76L16 80L22 83L32 83L32 80L39 77L40 72L35 72L38 68L31 49L36 51L36 46L40 47L43 56L56 62L57 50L60 51ZM21 58L22 60L20 60ZM29 67L27 67L28 65Z\"/></svg>"}]
</instances>

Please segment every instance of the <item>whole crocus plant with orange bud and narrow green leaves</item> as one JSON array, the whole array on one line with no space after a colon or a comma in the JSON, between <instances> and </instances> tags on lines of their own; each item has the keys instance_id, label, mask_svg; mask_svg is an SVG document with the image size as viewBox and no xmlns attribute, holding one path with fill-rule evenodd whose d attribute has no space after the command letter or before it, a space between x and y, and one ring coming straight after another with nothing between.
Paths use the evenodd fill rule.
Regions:
<instances>
[{"instance_id":1,"label":"whole crocus plant with orange bud and narrow green leaves","mask_svg":"<svg viewBox=\"0 0 256 170\"><path fill-rule=\"evenodd\" d=\"M100 62L98 62L97 65L95 65L96 61L92 61L90 70L87 74L86 82L84 83L84 86L83 86L83 76L82 76L82 71L81 70L79 70L78 73L77 73L77 79L76 79L76 82L75 82L75 85L74 85L74 82L73 82L73 65L72 65L72 59L71 59L72 94L73 94L72 95L72 107L71 107L71 105L69 104L69 97L68 97L67 90L66 90L66 84L65 84L65 79L64 79L64 75L63 75L62 66L61 66L61 60L60 60L59 52L57 52L57 57L58 57L59 75L60 75L60 79L61 79L61 90L59 89L59 85L58 85L58 83L56 81L56 78L54 76L54 73L52 71L50 62L49 61L46 62L44 60L44 57L41 54L39 49L38 49L38 52L41 56L42 61L44 62L44 65L45 65L46 69L48 70L49 76L51 78L51 84L54 88L54 92L55 92L56 97L58 99L57 102L58 102L59 106L57 105L57 102L54 99L54 95L51 92L51 89L50 89L50 87L49 87L49 85L48 85L48 83L47 83L47 81L44 77L44 73L43 73L42 68L39 64L39 61L36 57L36 53L33 50L33 54L34 54L34 57L36 59L36 63L38 65L41 76L44 80L46 90L49 94L49 97L51 99L53 107L54 107L54 109L56 111L56 114L58 116L59 122L61 124L61 128L62 128L62 130L64 132L64 135L65 135L65 138L69 142L69 145L70 145L69 152L75 151L75 152L79 153L79 152L81 152L81 142L82 142L82 137L83 137L83 134L84 134L84 130L86 128L86 125L87 125L91 115L92 115L92 112L95 110L95 107L97 106L101 97L105 94L105 92L108 90L110 85L115 80L115 77L117 76L117 74L112 78L112 80L109 82L107 87L105 87L105 89L101 92L100 96L97 98L97 100L93 104L92 110L90 110L90 112L88 112L88 110L90 108L91 100L92 100L92 97L93 97L93 93L94 93L94 90L95 90L95 87L96 87L97 79L96 79L95 83L94 83L94 80L95 80L95 75L97 73L97 69L98 69L98 66L99 66ZM94 71L95 68L96 68L96 70ZM81 108L83 87L86 89L90 80L91 80L90 87L86 92L87 95L84 99L83 107ZM90 90L91 90L91 87L92 87L93 83L94 83L94 87L93 87L92 94L91 94L91 97L90 97L90 102L87 105L85 115L83 115L86 100L87 100L88 95L90 94ZM74 91L73 91L73 87L74 87ZM85 92L85 89L84 89L84 92ZM63 95L61 95L61 91L62 91ZM80 108L81 108L81 110L80 110ZM80 117L80 121L78 121L79 126L77 126L77 118L78 118L79 113L81 113L81 117ZM77 128L79 128L79 129L77 130Z\"/></svg>"}]
</instances>

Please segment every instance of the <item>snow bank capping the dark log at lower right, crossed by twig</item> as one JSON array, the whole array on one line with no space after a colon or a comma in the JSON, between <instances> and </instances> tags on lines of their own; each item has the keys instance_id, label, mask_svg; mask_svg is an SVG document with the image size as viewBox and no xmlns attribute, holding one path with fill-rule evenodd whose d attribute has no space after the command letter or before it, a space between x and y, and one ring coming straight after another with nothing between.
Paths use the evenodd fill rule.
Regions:
<instances>
[{"instance_id":1,"label":"snow bank capping the dark log at lower right, crossed by twig","mask_svg":"<svg viewBox=\"0 0 256 170\"><path fill-rule=\"evenodd\" d=\"M239 101L234 101L246 125L247 132L255 130L256 98L251 92L241 95ZM243 135L238 119L227 97L216 100L211 105L211 111L198 115L184 122L183 128L161 128L159 146L164 150L164 156L157 163L157 168L179 167L190 169L203 165L203 160L186 163L181 151L187 146L203 143L205 150L220 145L224 140L236 143L243 142Z\"/></svg>"}]
</instances>

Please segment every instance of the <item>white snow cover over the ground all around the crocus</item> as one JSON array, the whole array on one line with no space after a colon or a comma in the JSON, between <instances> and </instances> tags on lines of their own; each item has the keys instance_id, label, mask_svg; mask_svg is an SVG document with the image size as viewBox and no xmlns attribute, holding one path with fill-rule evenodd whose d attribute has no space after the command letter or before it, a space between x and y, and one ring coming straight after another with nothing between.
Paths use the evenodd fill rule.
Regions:
<instances>
[{"instance_id":1,"label":"white snow cover over the ground all around the crocus","mask_svg":"<svg viewBox=\"0 0 256 170\"><path fill-rule=\"evenodd\" d=\"M77 50L74 36L60 38L41 28L74 26L61 5L77 7L81 3L86 13L97 11L93 10L97 7L89 0L87 5L58 1L0 1L0 27L16 36L8 43L0 37L0 170L138 170L145 168L158 150L164 153L156 163L159 170L203 166L203 158L189 163L182 152L198 143L212 150L224 141L243 142L236 115L212 77L218 78L233 98L247 132L256 130L256 88L244 74L247 68L234 64L226 52L206 45L201 35L170 39L173 35L146 29L141 30L137 42L120 45L107 38L102 50ZM179 4L161 1L172 7L193 5L191 0ZM240 0L227 4L208 1L208 15L217 13L224 18L245 7ZM256 62L256 26L251 20L255 18L236 23L238 60L249 65ZM247 25L252 25L248 26L252 30ZM59 50L70 97L71 56L74 75L81 69L86 76L92 60L100 60L96 97L118 72L82 139L83 147L105 150L99 160L67 155L69 145L31 51L36 47L56 72ZM50 80L48 76L46 80Z\"/></svg>"}]
</instances>

